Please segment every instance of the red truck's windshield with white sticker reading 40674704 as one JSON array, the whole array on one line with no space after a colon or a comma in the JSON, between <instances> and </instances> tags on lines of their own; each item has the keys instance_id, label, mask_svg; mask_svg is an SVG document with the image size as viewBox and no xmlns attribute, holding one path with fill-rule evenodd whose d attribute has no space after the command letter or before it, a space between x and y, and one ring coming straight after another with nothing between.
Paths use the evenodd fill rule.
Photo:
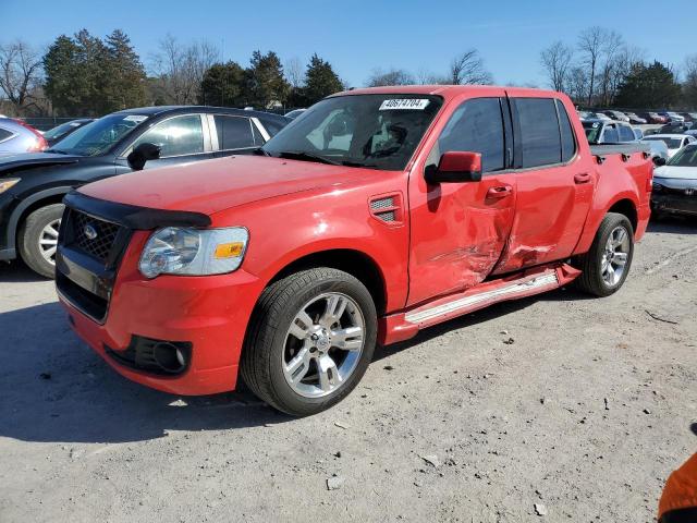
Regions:
<instances>
[{"instance_id":1,"label":"red truck's windshield with white sticker reading 40674704","mask_svg":"<svg viewBox=\"0 0 697 523\"><path fill-rule=\"evenodd\" d=\"M276 157L402 170L442 105L427 95L327 98L293 120L264 147Z\"/></svg>"}]
</instances>

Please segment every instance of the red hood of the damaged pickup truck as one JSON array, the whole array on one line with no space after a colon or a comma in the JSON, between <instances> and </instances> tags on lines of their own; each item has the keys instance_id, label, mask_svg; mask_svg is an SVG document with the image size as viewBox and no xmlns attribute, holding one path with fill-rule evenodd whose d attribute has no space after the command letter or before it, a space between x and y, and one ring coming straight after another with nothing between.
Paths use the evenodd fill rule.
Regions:
<instances>
[{"instance_id":1,"label":"red hood of the damaged pickup truck","mask_svg":"<svg viewBox=\"0 0 697 523\"><path fill-rule=\"evenodd\" d=\"M80 192L139 207L211 215L259 199L340 186L375 175L374 169L232 156L122 174L85 185Z\"/></svg>"}]
</instances>

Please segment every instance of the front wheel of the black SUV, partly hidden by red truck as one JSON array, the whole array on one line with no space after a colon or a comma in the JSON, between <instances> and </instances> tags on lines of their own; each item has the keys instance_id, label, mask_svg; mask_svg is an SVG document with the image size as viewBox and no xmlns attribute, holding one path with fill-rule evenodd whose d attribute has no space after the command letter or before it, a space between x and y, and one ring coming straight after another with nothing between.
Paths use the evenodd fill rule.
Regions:
<instances>
[{"instance_id":1,"label":"front wheel of the black SUV, partly hidden by red truck","mask_svg":"<svg viewBox=\"0 0 697 523\"><path fill-rule=\"evenodd\" d=\"M63 209L63 204L52 204L36 209L27 216L20 228L17 239L20 256L34 272L45 278L56 277L56 263L51 263L42 253L50 253L45 248L54 247L58 243L58 234L53 234L51 231L58 231L56 222L60 223ZM56 244L50 243L53 241ZM41 245L44 245L44 248Z\"/></svg>"}]
</instances>

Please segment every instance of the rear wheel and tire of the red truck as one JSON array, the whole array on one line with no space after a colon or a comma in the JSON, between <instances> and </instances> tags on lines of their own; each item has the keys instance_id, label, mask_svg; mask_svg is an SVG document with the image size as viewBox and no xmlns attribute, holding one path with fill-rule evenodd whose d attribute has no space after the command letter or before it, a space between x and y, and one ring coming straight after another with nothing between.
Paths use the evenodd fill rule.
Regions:
<instances>
[{"instance_id":1,"label":"rear wheel and tire of the red truck","mask_svg":"<svg viewBox=\"0 0 697 523\"><path fill-rule=\"evenodd\" d=\"M613 243L616 243L621 234L617 231L624 231L624 240L614 247L612 251L614 254L610 254L609 240L612 235ZM583 271L576 279L576 287L596 296L609 296L615 293L627 278L633 257L632 223L624 215L608 212L600 222L590 251L574 260L574 266ZM623 260L624 264L621 265Z\"/></svg>"}]
</instances>

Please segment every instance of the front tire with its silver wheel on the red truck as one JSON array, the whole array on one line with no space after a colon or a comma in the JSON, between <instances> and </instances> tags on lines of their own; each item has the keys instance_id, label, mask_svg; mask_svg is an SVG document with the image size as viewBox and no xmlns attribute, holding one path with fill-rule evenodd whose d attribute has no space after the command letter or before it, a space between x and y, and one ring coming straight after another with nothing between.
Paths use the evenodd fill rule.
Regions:
<instances>
[{"instance_id":1,"label":"front tire with its silver wheel on the red truck","mask_svg":"<svg viewBox=\"0 0 697 523\"><path fill-rule=\"evenodd\" d=\"M329 314L330 308L341 312ZM303 323L303 313L311 326ZM358 325L360 339L348 336ZM351 350L339 348L342 339ZM286 414L307 416L329 409L356 387L372 360L376 339L375 303L360 281L327 267L303 270L261 294L240 372L259 399Z\"/></svg>"}]
</instances>

